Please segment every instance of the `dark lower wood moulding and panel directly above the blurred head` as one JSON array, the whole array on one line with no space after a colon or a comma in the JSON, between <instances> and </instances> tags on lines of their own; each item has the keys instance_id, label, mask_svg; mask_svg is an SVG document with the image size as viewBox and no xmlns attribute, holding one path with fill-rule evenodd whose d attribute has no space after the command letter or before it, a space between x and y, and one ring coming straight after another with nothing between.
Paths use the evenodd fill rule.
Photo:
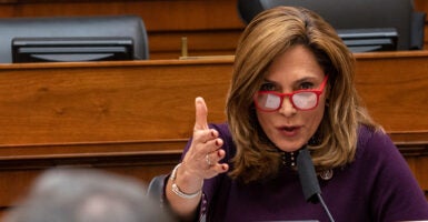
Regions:
<instances>
[{"instance_id":1,"label":"dark lower wood moulding and panel directly above the blurred head","mask_svg":"<svg viewBox=\"0 0 428 222\"><path fill-rule=\"evenodd\" d=\"M24 149L34 150L39 154L18 151L16 154L0 157L0 209L13 203L26 193L39 173L53 167L97 168L148 183L155 175L168 173L179 162L185 144L183 140L145 141L135 144L99 143L98 152L79 152L81 149L94 147L93 144L24 145ZM128 149L139 150L133 152L118 150L125 145ZM72 152L59 153L63 149Z\"/></svg>"}]
</instances>

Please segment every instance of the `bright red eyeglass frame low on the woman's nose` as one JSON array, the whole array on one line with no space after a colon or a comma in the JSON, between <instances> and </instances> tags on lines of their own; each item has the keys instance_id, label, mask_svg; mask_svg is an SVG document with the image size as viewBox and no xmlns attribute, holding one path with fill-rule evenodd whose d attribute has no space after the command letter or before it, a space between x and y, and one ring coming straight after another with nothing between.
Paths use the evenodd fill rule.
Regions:
<instances>
[{"instance_id":1,"label":"bright red eyeglass frame low on the woman's nose","mask_svg":"<svg viewBox=\"0 0 428 222\"><path fill-rule=\"evenodd\" d=\"M296 90L296 91L292 91L292 92L288 92L288 93L280 93L280 92L277 92L277 91L257 91L255 97L253 97L253 101L255 101L255 105L258 110L262 111L262 112L276 112L278 110L280 110L282 108L282 103L283 103L283 99L286 97L288 97L291 105L296 109L296 110L299 110L299 111L309 111L309 110L313 110L318 107L318 103L319 103L319 95L322 94L324 92L324 89L326 88L326 84L327 84L327 80L328 80L328 74L326 74L326 77L324 78L322 82L321 82L321 85L319 87L319 89L310 89L310 90ZM300 109L298 108L295 102L292 101L292 97L297 93L301 93L301 92L313 92L316 95L317 95L317 102L316 104L310 108L310 109ZM275 110L265 110L265 109L261 109L259 103L258 103L258 95L259 94L275 94L277 97L279 97L279 104L278 104L278 108L275 109Z\"/></svg>"}]
</instances>

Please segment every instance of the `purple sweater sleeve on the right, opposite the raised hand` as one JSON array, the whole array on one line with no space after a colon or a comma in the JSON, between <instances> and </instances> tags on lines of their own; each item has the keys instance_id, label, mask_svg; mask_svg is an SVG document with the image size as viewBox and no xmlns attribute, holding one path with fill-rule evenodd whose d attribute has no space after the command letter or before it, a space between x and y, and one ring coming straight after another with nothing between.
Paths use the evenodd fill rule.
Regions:
<instances>
[{"instance_id":1,"label":"purple sweater sleeve on the right, opposite the raised hand","mask_svg":"<svg viewBox=\"0 0 428 222\"><path fill-rule=\"evenodd\" d=\"M374 133L364 155L375 173L370 198L375 221L428 220L424 192L390 138Z\"/></svg>"}]
</instances>

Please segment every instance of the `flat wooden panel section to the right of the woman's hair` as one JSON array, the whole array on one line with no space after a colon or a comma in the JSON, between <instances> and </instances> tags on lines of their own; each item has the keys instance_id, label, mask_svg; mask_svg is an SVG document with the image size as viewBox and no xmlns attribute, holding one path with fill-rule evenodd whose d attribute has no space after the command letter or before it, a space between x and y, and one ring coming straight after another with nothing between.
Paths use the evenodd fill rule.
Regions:
<instances>
[{"instance_id":1,"label":"flat wooden panel section to the right of the woman's hair","mask_svg":"<svg viewBox=\"0 0 428 222\"><path fill-rule=\"evenodd\" d=\"M427 51L360 53L357 89L387 131L428 131ZM427 138L428 140L428 138Z\"/></svg>"}]
</instances>

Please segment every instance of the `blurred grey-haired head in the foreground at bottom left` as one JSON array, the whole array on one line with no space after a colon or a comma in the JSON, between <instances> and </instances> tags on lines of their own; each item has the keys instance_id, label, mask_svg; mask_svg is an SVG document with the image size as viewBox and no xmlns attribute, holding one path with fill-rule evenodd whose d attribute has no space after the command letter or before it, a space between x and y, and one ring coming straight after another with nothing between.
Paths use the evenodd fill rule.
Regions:
<instances>
[{"instance_id":1,"label":"blurred grey-haired head in the foreground at bottom left","mask_svg":"<svg viewBox=\"0 0 428 222\"><path fill-rule=\"evenodd\" d=\"M142 221L172 220L139 181L91 169L48 170L4 218L4 222Z\"/></svg>"}]
</instances>

